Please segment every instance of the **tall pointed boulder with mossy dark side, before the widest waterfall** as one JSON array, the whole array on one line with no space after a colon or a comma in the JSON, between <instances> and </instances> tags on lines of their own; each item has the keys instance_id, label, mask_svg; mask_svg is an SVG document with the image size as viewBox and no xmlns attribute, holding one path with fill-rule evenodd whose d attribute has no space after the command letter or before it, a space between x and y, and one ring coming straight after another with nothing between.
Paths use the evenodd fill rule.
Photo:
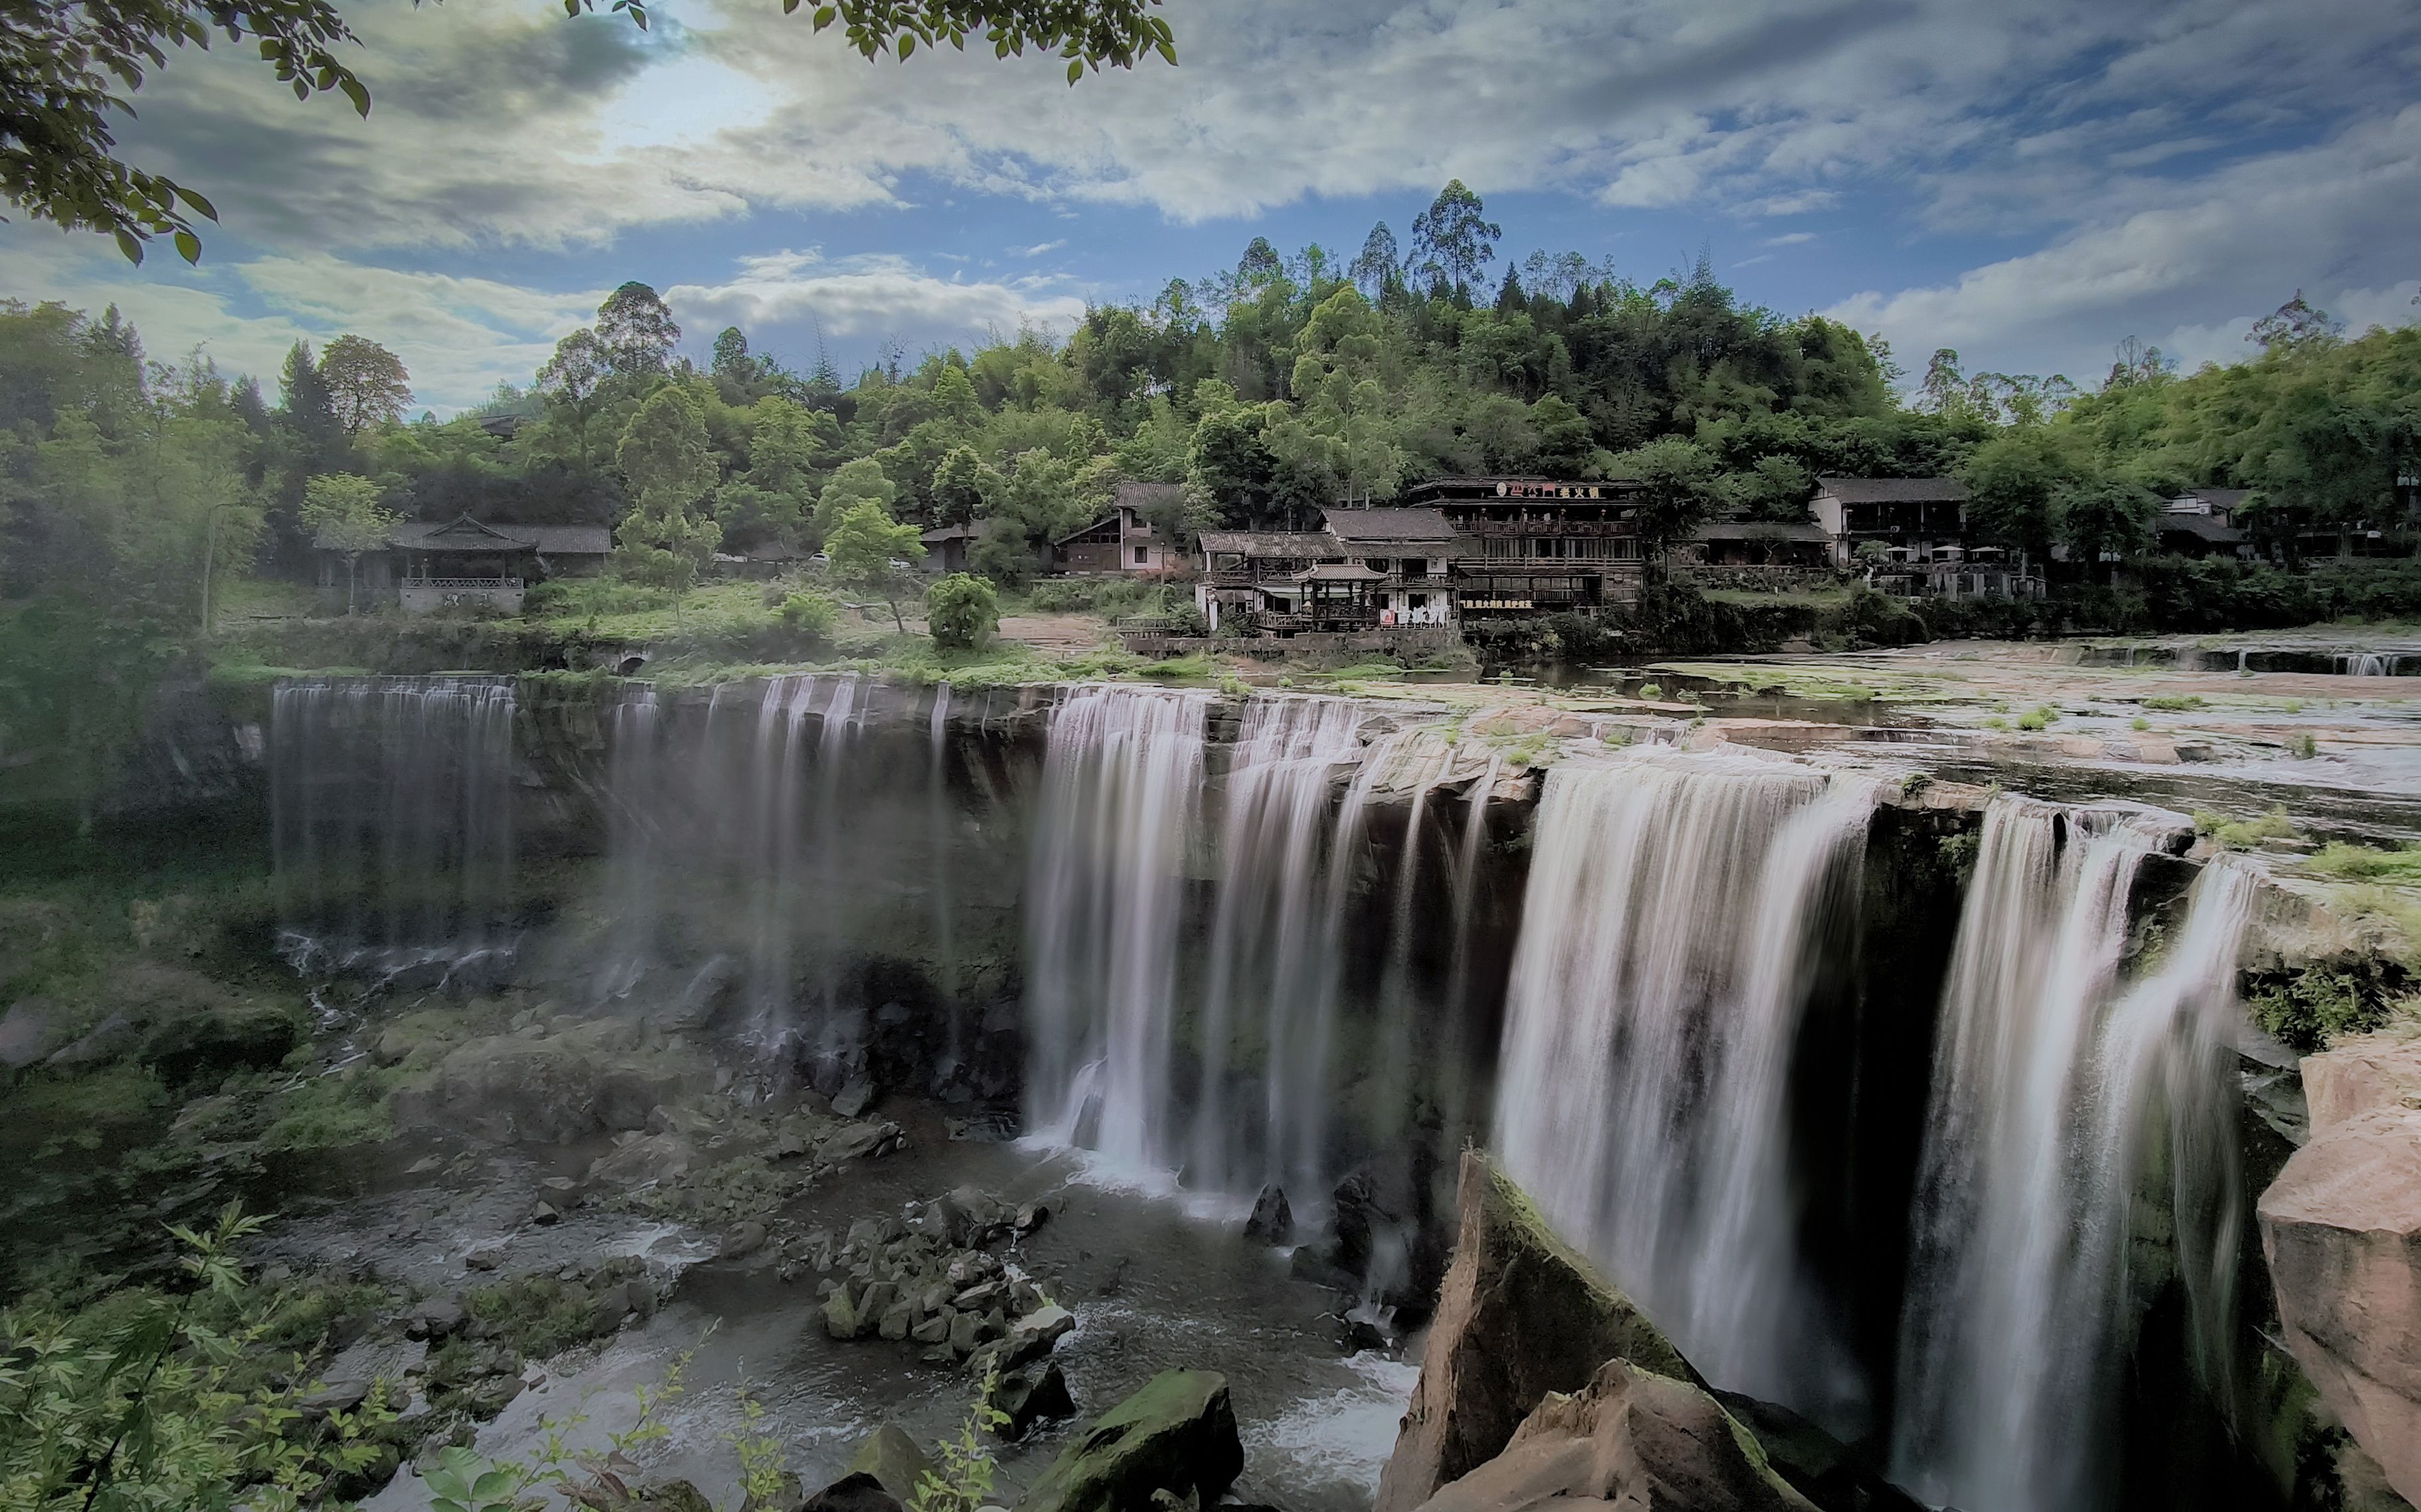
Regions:
<instances>
[{"instance_id":1,"label":"tall pointed boulder with mossy dark side, before the widest waterfall","mask_svg":"<svg viewBox=\"0 0 2421 1512\"><path fill-rule=\"evenodd\" d=\"M1455 1258L1373 1512L1409 1512L1494 1459L1549 1391L1608 1360L1704 1386L1680 1350L1477 1152L1462 1154Z\"/></svg>"}]
</instances>

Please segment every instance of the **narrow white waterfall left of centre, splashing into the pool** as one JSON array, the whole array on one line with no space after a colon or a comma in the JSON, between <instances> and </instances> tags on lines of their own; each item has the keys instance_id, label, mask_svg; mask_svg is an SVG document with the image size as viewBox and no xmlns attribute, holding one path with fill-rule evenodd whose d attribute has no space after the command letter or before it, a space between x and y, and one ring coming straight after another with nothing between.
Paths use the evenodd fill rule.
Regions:
<instances>
[{"instance_id":1,"label":"narrow white waterfall left of centre, splashing into the pool","mask_svg":"<svg viewBox=\"0 0 2421 1512\"><path fill-rule=\"evenodd\" d=\"M1208 694L1080 687L1053 711L1027 885L1027 1127L1135 1171L1181 1154L1181 871Z\"/></svg>"}]
</instances>

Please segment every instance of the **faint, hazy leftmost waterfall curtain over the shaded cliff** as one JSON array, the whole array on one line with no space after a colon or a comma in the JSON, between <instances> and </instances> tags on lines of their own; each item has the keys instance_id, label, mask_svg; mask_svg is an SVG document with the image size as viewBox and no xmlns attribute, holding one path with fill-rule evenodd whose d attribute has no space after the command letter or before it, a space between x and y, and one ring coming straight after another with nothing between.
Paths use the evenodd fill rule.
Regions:
<instances>
[{"instance_id":1,"label":"faint, hazy leftmost waterfall curtain over the shaded cliff","mask_svg":"<svg viewBox=\"0 0 2421 1512\"><path fill-rule=\"evenodd\" d=\"M271 844L295 960L395 970L508 948L513 685L278 685Z\"/></svg>"}]
</instances>

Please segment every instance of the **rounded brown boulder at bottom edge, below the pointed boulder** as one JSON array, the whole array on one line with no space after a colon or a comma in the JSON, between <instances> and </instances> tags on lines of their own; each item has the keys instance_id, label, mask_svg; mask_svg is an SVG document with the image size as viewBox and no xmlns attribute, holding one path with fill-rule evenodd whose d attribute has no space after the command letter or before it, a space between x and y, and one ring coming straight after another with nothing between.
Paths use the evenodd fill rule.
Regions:
<instances>
[{"instance_id":1,"label":"rounded brown boulder at bottom edge, below the pointed boulder","mask_svg":"<svg viewBox=\"0 0 2421 1512\"><path fill-rule=\"evenodd\" d=\"M1511 1512L1549 1497L1622 1512L1816 1512L1721 1403L1622 1360L1571 1396L1549 1391L1503 1454L1421 1512Z\"/></svg>"}]
</instances>

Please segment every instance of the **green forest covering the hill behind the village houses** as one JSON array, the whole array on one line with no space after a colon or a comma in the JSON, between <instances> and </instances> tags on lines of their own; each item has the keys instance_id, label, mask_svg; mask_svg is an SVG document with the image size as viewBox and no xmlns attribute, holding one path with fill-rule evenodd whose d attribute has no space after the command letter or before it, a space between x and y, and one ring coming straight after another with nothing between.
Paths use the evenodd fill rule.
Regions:
<instances>
[{"instance_id":1,"label":"green forest covering the hill behind the village houses","mask_svg":"<svg viewBox=\"0 0 2421 1512\"><path fill-rule=\"evenodd\" d=\"M1162 523L1179 535L1307 525L1445 474L1641 479L1670 535L1801 518L1818 474L1959 474L1983 539L2060 547L2077 590L2123 561L2155 607L2118 629L2346 602L2293 571L2145 556L2189 486L2252 489L2242 523L2285 569L2358 527L2402 539L2416 327L2348 334L2298 293L2244 360L2198 373L2121 339L2094 382L1968 373L1956 351L1910 380L1884 341L1746 302L1704 256L1654 281L1499 259L1482 215L1450 184L1404 244L1387 225L1351 259L1254 240L1150 305L847 382L741 329L697 365L629 281L525 385L443 421L414 419L402 360L363 336L298 344L261 380L160 360L116 310L0 305L0 721L99 738L143 668L191 648L213 583L305 578L312 539L458 513L613 525L615 571L668 588L717 552L816 552L852 510L966 523L976 571L1014 590L1126 479L1186 484Z\"/></svg>"}]
</instances>

